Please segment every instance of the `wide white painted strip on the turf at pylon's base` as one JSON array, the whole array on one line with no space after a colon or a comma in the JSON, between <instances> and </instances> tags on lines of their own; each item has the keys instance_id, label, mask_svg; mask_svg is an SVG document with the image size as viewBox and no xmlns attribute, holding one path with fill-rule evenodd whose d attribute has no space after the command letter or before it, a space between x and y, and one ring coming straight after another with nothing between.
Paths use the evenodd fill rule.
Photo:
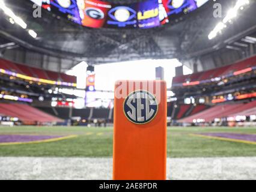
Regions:
<instances>
[{"instance_id":1,"label":"wide white painted strip on the turf at pylon's base","mask_svg":"<svg viewBox=\"0 0 256 192\"><path fill-rule=\"evenodd\" d=\"M168 158L168 179L256 179L256 157ZM111 179L112 158L0 157L0 179Z\"/></svg>"}]
</instances>

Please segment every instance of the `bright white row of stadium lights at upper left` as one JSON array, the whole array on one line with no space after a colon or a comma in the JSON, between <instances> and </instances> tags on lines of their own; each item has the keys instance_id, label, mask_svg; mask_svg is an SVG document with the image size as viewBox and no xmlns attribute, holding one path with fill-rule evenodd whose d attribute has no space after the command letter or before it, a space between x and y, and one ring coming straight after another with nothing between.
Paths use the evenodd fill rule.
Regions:
<instances>
[{"instance_id":1,"label":"bright white row of stadium lights at upper left","mask_svg":"<svg viewBox=\"0 0 256 192\"><path fill-rule=\"evenodd\" d=\"M0 9L4 11L4 13L10 17L9 21L11 24L17 23L17 25L21 26L23 29L26 29L28 25L21 19L20 17L16 16L10 8L6 7L4 0L0 0ZM32 29L28 30L28 34L31 35L33 38L37 38L37 33Z\"/></svg>"}]
</instances>

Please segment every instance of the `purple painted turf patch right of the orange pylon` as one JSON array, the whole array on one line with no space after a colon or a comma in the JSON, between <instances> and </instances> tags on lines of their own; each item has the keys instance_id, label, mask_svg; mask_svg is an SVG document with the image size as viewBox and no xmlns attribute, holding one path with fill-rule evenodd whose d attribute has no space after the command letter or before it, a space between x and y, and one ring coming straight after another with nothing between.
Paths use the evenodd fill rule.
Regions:
<instances>
[{"instance_id":1,"label":"purple painted turf patch right of the orange pylon","mask_svg":"<svg viewBox=\"0 0 256 192\"><path fill-rule=\"evenodd\" d=\"M222 137L228 139L246 140L256 142L256 134L239 134L239 133L200 133L204 136Z\"/></svg>"}]
</instances>

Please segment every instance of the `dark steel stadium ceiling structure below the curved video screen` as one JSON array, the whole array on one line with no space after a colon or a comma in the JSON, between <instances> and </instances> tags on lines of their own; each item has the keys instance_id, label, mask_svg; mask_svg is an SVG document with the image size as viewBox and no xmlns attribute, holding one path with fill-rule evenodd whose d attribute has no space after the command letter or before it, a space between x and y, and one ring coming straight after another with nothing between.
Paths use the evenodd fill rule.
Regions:
<instances>
[{"instance_id":1,"label":"dark steel stadium ceiling structure below the curved video screen","mask_svg":"<svg viewBox=\"0 0 256 192\"><path fill-rule=\"evenodd\" d=\"M127 3L124 0L111 2ZM129 2L138 2L138 0L129 0ZM209 40L209 32L222 19L213 16L215 11L213 5L221 4L222 17L224 17L236 2L237 0L209 1L193 13L157 28L93 29L76 25L46 10L42 10L41 18L34 18L32 16L34 9L30 1L8 0L5 4L25 20L29 29L37 32L37 38L32 38L20 26L12 25L9 17L3 16L4 13L0 10L3 16L0 18L0 54L7 58L15 55L16 61L31 65L34 62L33 64L38 67L58 71L67 70L80 61L97 65L138 59L172 58L178 58L184 64L198 62L201 64L201 70L205 70L233 62L227 60L230 58L230 52L233 55L240 52L239 57L242 58L245 47L241 47L241 44L250 43L241 43L240 40L246 35L255 37L253 33L256 31L256 3L250 1L250 5L234 19L232 25L224 29L218 37ZM222 62L212 64L210 67L204 66L207 62L206 56L213 58L216 52L225 53L222 54L224 58L219 59ZM37 55L41 61L37 64L35 58L30 62L26 61L33 55ZM58 67L51 68L54 63L57 63Z\"/></svg>"}]
</instances>

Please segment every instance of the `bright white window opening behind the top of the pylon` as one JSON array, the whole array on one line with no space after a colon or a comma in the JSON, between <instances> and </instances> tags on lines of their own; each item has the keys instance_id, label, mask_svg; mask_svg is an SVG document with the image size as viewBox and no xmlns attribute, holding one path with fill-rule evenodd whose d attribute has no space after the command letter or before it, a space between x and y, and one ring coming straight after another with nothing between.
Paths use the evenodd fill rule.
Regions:
<instances>
[{"instance_id":1,"label":"bright white window opening behind the top of the pylon","mask_svg":"<svg viewBox=\"0 0 256 192\"><path fill-rule=\"evenodd\" d=\"M181 66L177 59L147 59L118 62L95 66L95 88L101 91L114 91L117 80L154 80L156 67L163 67L167 87L171 88L175 67ZM185 69L187 72L187 68Z\"/></svg>"}]
</instances>

